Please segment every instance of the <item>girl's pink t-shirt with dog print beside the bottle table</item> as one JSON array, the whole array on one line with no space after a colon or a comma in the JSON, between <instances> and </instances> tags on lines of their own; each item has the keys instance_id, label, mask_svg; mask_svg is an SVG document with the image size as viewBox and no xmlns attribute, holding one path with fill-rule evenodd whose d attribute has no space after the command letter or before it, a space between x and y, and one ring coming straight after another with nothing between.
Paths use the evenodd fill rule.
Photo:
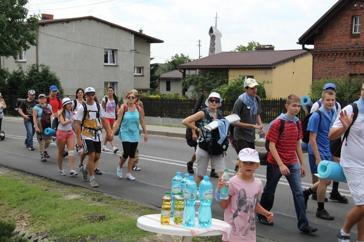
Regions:
<instances>
[{"instance_id":1,"label":"girl's pink t-shirt with dog print beside the bottle table","mask_svg":"<svg viewBox=\"0 0 364 242\"><path fill-rule=\"evenodd\" d=\"M262 181L256 177L253 182L245 182L237 176L230 178L231 200L225 209L224 221L232 226L232 232L229 240L224 234L223 241L256 241L254 209L258 194L262 193Z\"/></svg>"}]
</instances>

